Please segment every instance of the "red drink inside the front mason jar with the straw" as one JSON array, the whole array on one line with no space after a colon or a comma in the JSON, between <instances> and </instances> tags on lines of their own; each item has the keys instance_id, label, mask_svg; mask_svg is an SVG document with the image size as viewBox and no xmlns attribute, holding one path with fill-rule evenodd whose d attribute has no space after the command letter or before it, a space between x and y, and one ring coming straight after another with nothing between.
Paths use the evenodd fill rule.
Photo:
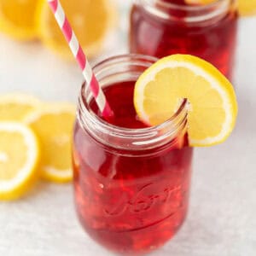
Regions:
<instances>
[{"instance_id":1,"label":"red drink inside the front mason jar with the straw","mask_svg":"<svg viewBox=\"0 0 256 256\"><path fill-rule=\"evenodd\" d=\"M137 119L133 89L134 82L122 82L104 90L114 112L113 125L146 127ZM98 113L95 102L90 106ZM77 122L74 192L84 229L103 246L122 253L160 247L186 216L192 151L185 143L183 148L170 143L124 152L96 142Z\"/></svg>"}]
</instances>

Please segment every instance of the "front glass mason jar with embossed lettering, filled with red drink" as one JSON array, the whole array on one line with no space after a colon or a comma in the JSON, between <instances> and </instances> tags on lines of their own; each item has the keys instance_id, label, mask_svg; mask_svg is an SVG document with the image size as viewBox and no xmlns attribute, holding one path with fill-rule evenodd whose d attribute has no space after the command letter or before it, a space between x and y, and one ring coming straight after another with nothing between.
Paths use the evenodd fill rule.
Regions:
<instances>
[{"instance_id":1,"label":"front glass mason jar with embossed lettering, filled with red drink","mask_svg":"<svg viewBox=\"0 0 256 256\"><path fill-rule=\"evenodd\" d=\"M160 247L183 224L193 148L187 143L186 100L165 123L137 119L133 87L156 59L119 55L93 70L113 109L102 119L87 84L73 133L74 198L84 230L104 247L141 253Z\"/></svg>"}]
</instances>

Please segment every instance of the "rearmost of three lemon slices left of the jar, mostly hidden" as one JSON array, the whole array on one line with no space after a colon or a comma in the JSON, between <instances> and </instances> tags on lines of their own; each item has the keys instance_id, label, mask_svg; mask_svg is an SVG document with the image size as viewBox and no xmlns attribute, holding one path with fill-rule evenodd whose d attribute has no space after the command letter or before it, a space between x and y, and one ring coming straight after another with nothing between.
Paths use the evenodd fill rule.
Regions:
<instances>
[{"instance_id":1,"label":"rearmost of three lemon slices left of the jar, mostly hidden","mask_svg":"<svg viewBox=\"0 0 256 256\"><path fill-rule=\"evenodd\" d=\"M7 94L0 96L0 121L22 121L26 115L39 108L40 102L33 96Z\"/></svg>"}]
</instances>

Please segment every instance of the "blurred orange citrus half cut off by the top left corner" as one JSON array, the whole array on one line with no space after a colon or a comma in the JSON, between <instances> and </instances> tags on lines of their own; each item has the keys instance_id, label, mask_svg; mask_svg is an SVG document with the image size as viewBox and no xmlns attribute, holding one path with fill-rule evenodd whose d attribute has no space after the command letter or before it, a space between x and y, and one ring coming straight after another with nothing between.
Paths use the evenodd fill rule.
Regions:
<instances>
[{"instance_id":1,"label":"blurred orange citrus half cut off by the top left corner","mask_svg":"<svg viewBox=\"0 0 256 256\"><path fill-rule=\"evenodd\" d=\"M37 6L37 0L0 0L0 31L20 40L36 38Z\"/></svg>"}]
</instances>

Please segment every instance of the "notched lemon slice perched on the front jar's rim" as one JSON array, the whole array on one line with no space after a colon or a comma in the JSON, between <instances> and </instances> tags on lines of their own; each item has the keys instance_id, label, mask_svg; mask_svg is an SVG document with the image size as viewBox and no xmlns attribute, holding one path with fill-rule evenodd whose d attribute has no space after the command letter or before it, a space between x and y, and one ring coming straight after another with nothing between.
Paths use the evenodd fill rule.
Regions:
<instances>
[{"instance_id":1,"label":"notched lemon slice perched on the front jar's rim","mask_svg":"<svg viewBox=\"0 0 256 256\"><path fill-rule=\"evenodd\" d=\"M189 101L189 144L224 142L236 122L236 95L230 82L207 61L171 55L149 67L137 80L134 105L149 125L159 125Z\"/></svg>"}]
</instances>

